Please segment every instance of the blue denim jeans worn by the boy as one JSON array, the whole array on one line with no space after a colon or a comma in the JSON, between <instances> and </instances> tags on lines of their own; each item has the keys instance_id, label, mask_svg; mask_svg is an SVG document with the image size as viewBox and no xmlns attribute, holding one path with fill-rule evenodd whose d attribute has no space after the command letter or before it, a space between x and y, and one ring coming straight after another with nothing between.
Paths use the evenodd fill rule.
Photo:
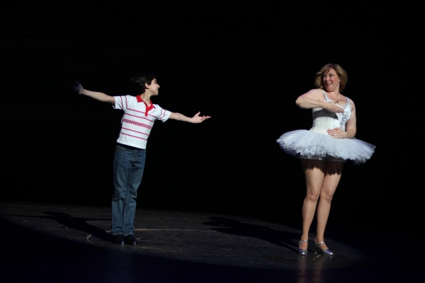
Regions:
<instances>
[{"instance_id":1,"label":"blue denim jeans worn by the boy","mask_svg":"<svg viewBox=\"0 0 425 283\"><path fill-rule=\"evenodd\" d=\"M135 231L137 188L142 182L146 150L115 146L113 158L112 224L113 235L128 236Z\"/></svg>"}]
</instances>

